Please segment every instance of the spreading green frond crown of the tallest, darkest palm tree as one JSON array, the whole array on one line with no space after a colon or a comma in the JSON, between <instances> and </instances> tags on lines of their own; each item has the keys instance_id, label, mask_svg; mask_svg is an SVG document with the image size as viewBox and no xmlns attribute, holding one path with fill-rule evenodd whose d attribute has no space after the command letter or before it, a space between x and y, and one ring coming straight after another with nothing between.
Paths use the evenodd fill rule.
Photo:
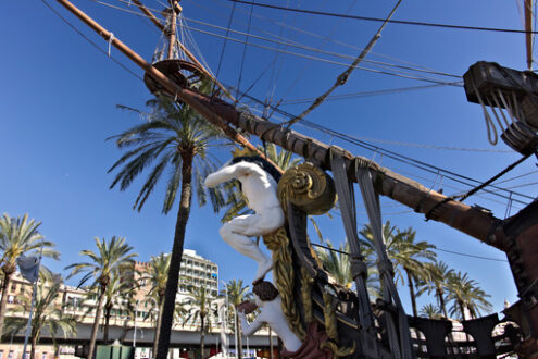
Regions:
<instances>
[{"instance_id":1,"label":"spreading green frond crown of the tallest, darkest palm tree","mask_svg":"<svg viewBox=\"0 0 538 359\"><path fill-rule=\"evenodd\" d=\"M150 108L149 114L118 106L121 109L145 114L147 122L111 137L120 149L127 149L127 152L109 169L112 172L122 166L110 188L120 185L120 189L125 190L135 177L152 168L135 200L134 209L140 211L158 182L167 173L162 212L168 213L182 182L184 161L192 161L188 164L193 165L199 206L205 205L209 196L213 209L218 211L225 205L222 188L204 188L203 180L217 168L209 149L227 144L222 131L209 124L190 107L180 106L167 98L155 98L147 104Z\"/></svg>"}]
</instances>

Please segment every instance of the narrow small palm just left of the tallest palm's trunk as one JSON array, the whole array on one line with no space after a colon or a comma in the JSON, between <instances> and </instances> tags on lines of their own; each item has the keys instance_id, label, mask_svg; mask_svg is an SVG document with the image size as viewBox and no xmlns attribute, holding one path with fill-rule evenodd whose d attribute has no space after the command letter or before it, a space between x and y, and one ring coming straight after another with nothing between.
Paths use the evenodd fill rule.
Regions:
<instances>
[{"instance_id":1,"label":"narrow small palm just left of the tallest palm's trunk","mask_svg":"<svg viewBox=\"0 0 538 359\"><path fill-rule=\"evenodd\" d=\"M147 273L151 283L151 289L149 295L155 298L158 306L157 309L157 322L155 322L155 336L153 342L153 352L157 352L159 346L159 334L161 329L161 322L163 318L163 304L164 294L166 292L166 282L170 271L170 256L161 253L157 257L151 257L150 269Z\"/></svg>"}]
</instances>

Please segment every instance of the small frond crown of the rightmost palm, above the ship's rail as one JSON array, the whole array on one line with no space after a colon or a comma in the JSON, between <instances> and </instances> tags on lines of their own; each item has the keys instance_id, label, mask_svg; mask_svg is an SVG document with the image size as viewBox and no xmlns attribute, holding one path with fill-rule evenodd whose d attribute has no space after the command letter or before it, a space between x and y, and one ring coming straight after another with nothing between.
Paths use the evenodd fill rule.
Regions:
<instances>
[{"instance_id":1,"label":"small frond crown of the rightmost palm, above the ship's rail","mask_svg":"<svg viewBox=\"0 0 538 359\"><path fill-rule=\"evenodd\" d=\"M466 320L465 310L468 310L471 319L477 318L481 311L491 312L491 304L486 299L490 297L478 283L471 280L467 273L451 272L448 278L447 300L453 300L450 314L460 314Z\"/></svg>"}]
</instances>

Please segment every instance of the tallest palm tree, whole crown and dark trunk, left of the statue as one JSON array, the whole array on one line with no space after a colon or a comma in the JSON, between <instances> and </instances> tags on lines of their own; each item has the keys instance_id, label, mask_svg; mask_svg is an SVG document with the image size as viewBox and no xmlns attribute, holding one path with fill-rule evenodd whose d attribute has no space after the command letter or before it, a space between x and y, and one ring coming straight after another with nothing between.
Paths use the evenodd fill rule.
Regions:
<instances>
[{"instance_id":1,"label":"tallest palm tree, whole crown and dark trunk, left of the statue","mask_svg":"<svg viewBox=\"0 0 538 359\"><path fill-rule=\"evenodd\" d=\"M153 165L135 200L134 208L138 211L146 203L163 173L170 173L166 178L163 213L166 214L172 210L180 186L179 208L157 355L157 358L165 359L174 317L185 231L190 214L192 194L195 193L192 180L195 180L193 185L199 206L203 206L207 202L208 195L215 211L224 206L224 198L221 195L222 189L204 189L202 184L205 175L216 170L216 165L211 160L209 148L213 143L222 139L223 134L188 106L178 104L164 98L151 100L148 104L151 113L147 116L147 123L129 128L114 137L117 147L128 149L128 151L112 165L109 172L123 165L112 182L111 188L118 184L120 189L124 190L145 169ZM141 113L141 111L135 109L122 108Z\"/></svg>"}]
</instances>

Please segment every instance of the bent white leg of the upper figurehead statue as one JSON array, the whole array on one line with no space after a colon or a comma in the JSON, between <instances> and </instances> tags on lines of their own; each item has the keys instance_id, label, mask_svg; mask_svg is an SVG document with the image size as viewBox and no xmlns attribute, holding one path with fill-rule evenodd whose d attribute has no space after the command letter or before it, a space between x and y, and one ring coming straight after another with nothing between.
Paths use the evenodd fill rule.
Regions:
<instances>
[{"instance_id":1,"label":"bent white leg of the upper figurehead statue","mask_svg":"<svg viewBox=\"0 0 538 359\"><path fill-rule=\"evenodd\" d=\"M258 221L259 215L257 214L241 215L224 224L218 231L221 237L224 242L230 245L232 248L258 262L258 271L254 275L254 282L263 278L273 267L273 261L271 258L265 256L260 250L260 247L258 247L255 242L243 234L249 232L253 233L249 234L250 236L259 235L257 231L252 232L252 228L257 227L255 223Z\"/></svg>"}]
</instances>

